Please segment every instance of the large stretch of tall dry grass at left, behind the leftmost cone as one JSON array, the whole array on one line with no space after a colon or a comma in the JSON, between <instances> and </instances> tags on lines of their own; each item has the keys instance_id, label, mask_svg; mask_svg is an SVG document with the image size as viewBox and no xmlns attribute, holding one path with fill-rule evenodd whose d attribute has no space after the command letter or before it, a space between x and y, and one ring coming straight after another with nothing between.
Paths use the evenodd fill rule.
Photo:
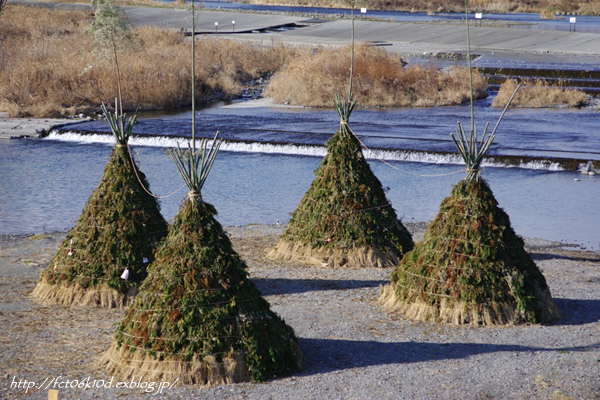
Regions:
<instances>
[{"instance_id":1,"label":"large stretch of tall dry grass at left, behind the leftmost cone","mask_svg":"<svg viewBox=\"0 0 600 400\"><path fill-rule=\"evenodd\" d=\"M0 110L55 117L98 110L117 93L114 65L98 58L85 29L89 12L7 7L0 24ZM136 29L135 50L119 56L126 109L191 104L190 43L173 30ZM197 41L197 98L237 96L242 82L277 70L292 54L225 39Z\"/></svg>"}]
</instances>

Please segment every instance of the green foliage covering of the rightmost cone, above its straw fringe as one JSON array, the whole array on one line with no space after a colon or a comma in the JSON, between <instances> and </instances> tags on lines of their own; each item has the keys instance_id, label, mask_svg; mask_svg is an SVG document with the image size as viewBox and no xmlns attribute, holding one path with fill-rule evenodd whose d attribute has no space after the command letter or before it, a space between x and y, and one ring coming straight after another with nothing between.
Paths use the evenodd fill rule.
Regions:
<instances>
[{"instance_id":1,"label":"green foliage covering of the rightmost cone, above its straw fringe","mask_svg":"<svg viewBox=\"0 0 600 400\"><path fill-rule=\"evenodd\" d=\"M512 305L518 322L530 323L550 322L552 315L542 296L549 297L544 276L482 179L454 187L423 241L394 270L392 282L404 303L439 308L442 301L456 300L481 310L503 303Z\"/></svg>"}]
</instances>

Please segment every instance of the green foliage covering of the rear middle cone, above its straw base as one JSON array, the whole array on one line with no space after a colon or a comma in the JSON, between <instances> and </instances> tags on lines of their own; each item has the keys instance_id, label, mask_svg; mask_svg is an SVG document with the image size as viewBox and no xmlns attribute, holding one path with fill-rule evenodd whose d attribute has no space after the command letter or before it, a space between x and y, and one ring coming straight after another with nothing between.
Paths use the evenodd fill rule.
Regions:
<instances>
[{"instance_id":1,"label":"green foliage covering of the rear middle cone, above its straw base","mask_svg":"<svg viewBox=\"0 0 600 400\"><path fill-rule=\"evenodd\" d=\"M314 248L372 248L396 253L412 249L381 182L365 160L347 123L327 142L327 155L282 236Z\"/></svg>"}]
</instances>

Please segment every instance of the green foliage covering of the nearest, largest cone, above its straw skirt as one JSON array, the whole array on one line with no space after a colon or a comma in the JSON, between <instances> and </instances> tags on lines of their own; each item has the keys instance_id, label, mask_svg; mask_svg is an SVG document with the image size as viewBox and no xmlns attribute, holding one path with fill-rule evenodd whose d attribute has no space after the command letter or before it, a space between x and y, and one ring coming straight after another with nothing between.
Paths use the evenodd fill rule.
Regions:
<instances>
[{"instance_id":1,"label":"green foliage covering of the nearest, largest cone, above its straw skirt","mask_svg":"<svg viewBox=\"0 0 600 400\"><path fill-rule=\"evenodd\" d=\"M117 330L118 347L157 360L214 356L217 362L233 350L244 355L256 381L298 371L292 328L248 279L215 214L198 199L182 205Z\"/></svg>"}]
</instances>

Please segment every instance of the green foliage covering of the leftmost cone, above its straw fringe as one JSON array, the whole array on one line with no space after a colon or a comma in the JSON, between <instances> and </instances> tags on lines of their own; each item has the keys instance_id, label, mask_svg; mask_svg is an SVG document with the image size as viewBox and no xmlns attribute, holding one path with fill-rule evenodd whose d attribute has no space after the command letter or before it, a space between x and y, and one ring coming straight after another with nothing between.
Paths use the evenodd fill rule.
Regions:
<instances>
[{"instance_id":1,"label":"green foliage covering of the leftmost cone, above its straw fringe","mask_svg":"<svg viewBox=\"0 0 600 400\"><path fill-rule=\"evenodd\" d=\"M137 174L149 187L144 173L138 169ZM126 293L146 277L144 257L149 262L154 259L156 245L167 230L156 199L136 177L128 148L116 146L102 180L42 278L50 284L78 283L83 288L108 284ZM129 280L121 279L125 267Z\"/></svg>"}]
</instances>

